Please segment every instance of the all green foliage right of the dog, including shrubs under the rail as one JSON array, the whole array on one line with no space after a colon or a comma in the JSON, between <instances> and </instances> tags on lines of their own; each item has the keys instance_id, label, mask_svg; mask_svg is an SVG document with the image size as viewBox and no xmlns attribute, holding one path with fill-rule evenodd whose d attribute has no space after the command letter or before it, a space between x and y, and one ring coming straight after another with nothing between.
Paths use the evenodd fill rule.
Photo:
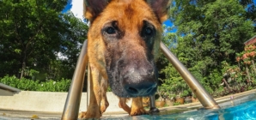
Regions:
<instances>
[{"instance_id":1,"label":"all green foliage right of the dog, including shrubs under the rail","mask_svg":"<svg viewBox=\"0 0 256 120\"><path fill-rule=\"evenodd\" d=\"M234 83L230 81L232 82L229 83L230 87L222 85L223 75L230 68L238 68L235 57L237 53L243 51L243 43L256 34L253 26L255 21L250 19L255 19L255 16L247 15L249 11L245 5L252 3L243 0L240 2L174 0L170 10L170 20L174 26L164 27L178 30L176 33L163 34L163 41L170 51L210 94L217 94L216 96L241 92L240 89L245 87L243 85L245 77L242 75L244 70L236 72L235 76L230 74L235 79ZM164 58L160 60L166 62ZM251 59L247 58L247 61ZM229 65L225 66L227 65L225 63ZM165 75L161 77L161 86L168 89L167 92L191 94L174 66L168 64L160 73ZM234 90L233 87L239 88Z\"/></svg>"}]
</instances>

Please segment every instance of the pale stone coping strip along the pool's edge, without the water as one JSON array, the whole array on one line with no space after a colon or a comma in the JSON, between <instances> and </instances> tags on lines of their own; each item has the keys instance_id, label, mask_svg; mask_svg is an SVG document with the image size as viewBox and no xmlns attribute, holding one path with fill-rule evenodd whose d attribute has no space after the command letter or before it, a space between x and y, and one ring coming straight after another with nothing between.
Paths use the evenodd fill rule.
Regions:
<instances>
[{"instance_id":1,"label":"pale stone coping strip along the pool's edge, without the water","mask_svg":"<svg viewBox=\"0 0 256 120\"><path fill-rule=\"evenodd\" d=\"M246 91L243 93L235 93L228 96L224 96L221 98L216 98L216 103L221 104L227 101L230 101L230 99L240 99L243 97L246 97L249 94L256 94L256 89ZM179 112L179 111L192 111L198 108L203 108L203 106L200 104L200 102L195 103L189 103L185 105L175 105L175 106L167 106L159 108L160 113L159 114L165 114L169 111ZM62 115L62 112L46 112L46 111L12 111L12 110L3 110L0 109L0 118L35 118L35 119L60 119ZM103 117L123 117L128 116L128 114L125 111L108 111L103 113Z\"/></svg>"}]
</instances>

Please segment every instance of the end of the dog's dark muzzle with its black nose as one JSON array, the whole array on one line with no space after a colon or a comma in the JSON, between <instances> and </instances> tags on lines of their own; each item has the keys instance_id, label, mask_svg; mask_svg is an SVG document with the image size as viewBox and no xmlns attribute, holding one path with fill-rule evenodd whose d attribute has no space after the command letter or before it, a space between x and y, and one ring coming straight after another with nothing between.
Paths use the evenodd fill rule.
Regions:
<instances>
[{"instance_id":1,"label":"end of the dog's dark muzzle with its black nose","mask_svg":"<svg viewBox=\"0 0 256 120\"><path fill-rule=\"evenodd\" d=\"M113 93L122 98L150 96L156 92L157 79L155 70L142 73L143 69L129 69L109 72L109 83Z\"/></svg>"}]
</instances>

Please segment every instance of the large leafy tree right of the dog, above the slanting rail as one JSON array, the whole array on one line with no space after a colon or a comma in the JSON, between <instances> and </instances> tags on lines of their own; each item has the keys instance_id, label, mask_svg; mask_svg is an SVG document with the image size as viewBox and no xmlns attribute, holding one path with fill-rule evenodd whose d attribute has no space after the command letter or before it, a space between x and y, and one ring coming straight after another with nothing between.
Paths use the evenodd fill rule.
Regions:
<instances>
[{"instance_id":1,"label":"large leafy tree right of the dog, above the slanting rail","mask_svg":"<svg viewBox=\"0 0 256 120\"><path fill-rule=\"evenodd\" d=\"M255 34L245 6L235 0L175 0L170 15L178 29L171 51L203 86L218 86L213 75L222 76L222 61L234 64L235 53Z\"/></svg>"}]
</instances>

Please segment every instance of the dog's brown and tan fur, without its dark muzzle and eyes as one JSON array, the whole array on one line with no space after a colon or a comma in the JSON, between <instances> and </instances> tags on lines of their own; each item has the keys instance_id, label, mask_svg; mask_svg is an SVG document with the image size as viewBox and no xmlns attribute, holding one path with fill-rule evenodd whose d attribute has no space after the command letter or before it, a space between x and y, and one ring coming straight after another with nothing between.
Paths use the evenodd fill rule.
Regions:
<instances>
[{"instance_id":1,"label":"dog's brown and tan fur, without its dark muzzle and eyes","mask_svg":"<svg viewBox=\"0 0 256 120\"><path fill-rule=\"evenodd\" d=\"M88 62L91 70L90 81L90 99L87 112L82 112L79 117L82 118L100 118L102 113L106 111L108 104L107 101L107 87L110 78L107 68L111 68L111 62L117 62L119 55L125 52L125 59L127 61L136 62L145 68L150 68L150 63L146 64L143 60L148 60L149 55L152 55L154 59L157 58L160 40L162 36L162 22L168 19L168 6L169 0L111 0L106 2L105 0L86 0L84 3L84 16L91 23L91 27L88 31ZM115 25L110 24L115 21ZM144 21L155 28L155 34L151 38L154 41L152 50L149 51L149 46L140 35L143 29ZM110 24L110 25L108 25ZM104 38L104 31L102 29L105 26L118 26L118 32L116 36L119 39L111 39L111 35L108 38ZM112 31L110 31L111 33ZM149 31L152 32L152 31ZM110 36L110 40L109 40ZM118 44L113 42L119 41ZM116 49L116 45L119 45L120 50ZM122 50L124 49L124 51ZM111 51L110 51L111 50ZM147 52L146 52L147 51ZM135 64L136 64L135 63ZM131 63L133 64L133 63ZM140 67L137 65L137 67ZM149 66L149 67L148 67ZM152 68L152 67L151 67ZM151 69L150 68L150 69ZM118 69L119 70L119 69ZM153 77L153 76L152 76ZM129 80L131 81L131 80ZM143 81L142 81L143 82ZM113 84L113 81L110 82ZM125 83L124 83L125 84ZM111 86L113 89L115 86ZM143 109L142 97L146 95L144 93L129 94L119 93L118 90L113 90L115 94L119 96L119 107L127 111L131 116L147 114L148 112ZM152 93L151 93L152 94ZM126 99L132 97L131 108L126 105Z\"/></svg>"}]
</instances>

